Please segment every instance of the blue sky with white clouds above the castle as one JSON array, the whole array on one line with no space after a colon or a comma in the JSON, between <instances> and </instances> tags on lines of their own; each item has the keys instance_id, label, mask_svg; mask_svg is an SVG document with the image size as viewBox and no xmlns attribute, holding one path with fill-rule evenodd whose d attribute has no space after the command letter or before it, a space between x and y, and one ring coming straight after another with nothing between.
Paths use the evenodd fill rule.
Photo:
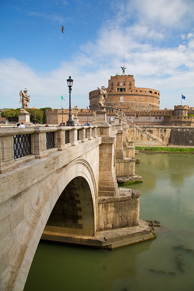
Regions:
<instances>
[{"instance_id":1,"label":"blue sky with white clouds above the castle","mask_svg":"<svg viewBox=\"0 0 194 291\"><path fill-rule=\"evenodd\" d=\"M0 108L89 107L89 91L133 74L160 91L160 108L194 107L193 0L1 0ZM64 25L64 33L60 28Z\"/></svg>"}]
</instances>

